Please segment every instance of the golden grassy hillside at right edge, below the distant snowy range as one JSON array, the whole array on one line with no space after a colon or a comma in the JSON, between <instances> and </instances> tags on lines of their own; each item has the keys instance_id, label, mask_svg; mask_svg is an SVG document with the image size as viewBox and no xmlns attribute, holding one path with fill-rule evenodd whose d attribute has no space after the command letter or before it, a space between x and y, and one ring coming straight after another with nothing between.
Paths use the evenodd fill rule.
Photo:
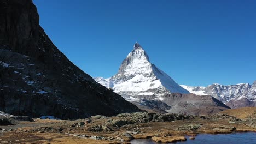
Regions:
<instances>
[{"instance_id":1,"label":"golden grassy hillside at right edge, below the distant snowy range","mask_svg":"<svg viewBox=\"0 0 256 144\"><path fill-rule=\"evenodd\" d=\"M243 107L240 109L229 109L219 113L234 116L240 119L256 118L256 107Z\"/></svg>"}]
</instances>

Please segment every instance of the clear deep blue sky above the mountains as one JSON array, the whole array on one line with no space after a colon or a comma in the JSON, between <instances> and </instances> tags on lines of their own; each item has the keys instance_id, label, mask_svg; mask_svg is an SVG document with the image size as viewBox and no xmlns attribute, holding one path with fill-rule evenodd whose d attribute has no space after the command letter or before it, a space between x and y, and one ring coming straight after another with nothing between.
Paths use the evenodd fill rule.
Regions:
<instances>
[{"instance_id":1,"label":"clear deep blue sky above the mountains","mask_svg":"<svg viewBox=\"0 0 256 144\"><path fill-rule=\"evenodd\" d=\"M256 1L33 0L53 43L92 77L110 77L138 41L177 83L256 80Z\"/></svg>"}]
</instances>

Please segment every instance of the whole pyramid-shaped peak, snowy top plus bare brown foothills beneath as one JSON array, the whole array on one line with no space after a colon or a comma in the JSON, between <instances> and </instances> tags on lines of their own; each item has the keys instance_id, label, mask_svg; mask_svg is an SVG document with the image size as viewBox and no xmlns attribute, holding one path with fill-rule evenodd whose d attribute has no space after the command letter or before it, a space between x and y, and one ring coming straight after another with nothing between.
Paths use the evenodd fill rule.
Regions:
<instances>
[{"instance_id":1,"label":"whole pyramid-shaped peak, snowy top plus bare brown foothills beneath","mask_svg":"<svg viewBox=\"0 0 256 144\"><path fill-rule=\"evenodd\" d=\"M116 75L95 80L132 101L139 108L158 113L189 115L216 113L230 109L210 95L189 94L164 71L150 63L147 53L136 43Z\"/></svg>"}]
</instances>

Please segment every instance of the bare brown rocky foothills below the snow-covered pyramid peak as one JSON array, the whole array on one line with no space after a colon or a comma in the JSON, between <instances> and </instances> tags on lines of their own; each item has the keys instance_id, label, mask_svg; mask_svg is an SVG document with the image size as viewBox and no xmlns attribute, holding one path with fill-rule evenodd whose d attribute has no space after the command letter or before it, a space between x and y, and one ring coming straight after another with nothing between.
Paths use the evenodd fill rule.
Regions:
<instances>
[{"instance_id":1,"label":"bare brown rocky foothills below the snow-covered pyramid peak","mask_svg":"<svg viewBox=\"0 0 256 144\"><path fill-rule=\"evenodd\" d=\"M133 101L139 109L155 113L177 113L185 115L207 115L230 109L211 95L171 93L162 95L164 100L141 99Z\"/></svg>"}]
</instances>

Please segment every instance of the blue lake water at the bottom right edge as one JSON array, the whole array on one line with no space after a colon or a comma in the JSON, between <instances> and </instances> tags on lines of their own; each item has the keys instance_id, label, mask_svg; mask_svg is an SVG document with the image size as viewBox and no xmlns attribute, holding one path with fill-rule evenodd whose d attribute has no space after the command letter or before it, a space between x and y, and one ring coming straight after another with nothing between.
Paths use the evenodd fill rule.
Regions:
<instances>
[{"instance_id":1,"label":"blue lake water at the bottom right edge","mask_svg":"<svg viewBox=\"0 0 256 144\"><path fill-rule=\"evenodd\" d=\"M195 140L190 140L187 137L187 141L176 142L177 144L234 144L234 143L246 143L246 144L256 144L256 133L232 133L232 134L199 134L195 136ZM153 142L151 139L136 139L132 140L131 144L156 144L158 142Z\"/></svg>"}]
</instances>

